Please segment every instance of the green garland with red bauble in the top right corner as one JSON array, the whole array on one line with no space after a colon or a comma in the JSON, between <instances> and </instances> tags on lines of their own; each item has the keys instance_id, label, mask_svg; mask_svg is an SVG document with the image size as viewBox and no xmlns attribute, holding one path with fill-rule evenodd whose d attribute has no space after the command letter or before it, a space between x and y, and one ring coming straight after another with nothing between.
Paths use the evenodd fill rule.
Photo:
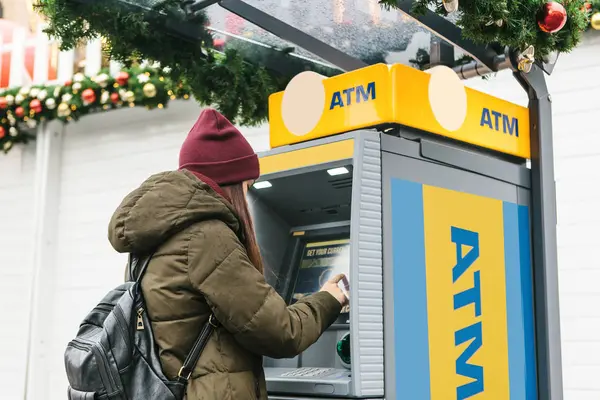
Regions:
<instances>
[{"instance_id":1,"label":"green garland with red bauble in the top right corner","mask_svg":"<svg viewBox=\"0 0 600 400\"><path fill-rule=\"evenodd\" d=\"M460 3L459 3L460 2ZM379 0L396 8L396 0ZM590 24L590 8L598 0L416 0L413 12L433 8L447 16L456 13L462 35L475 43L499 43L518 51L533 47L535 59L569 52Z\"/></svg>"}]
</instances>

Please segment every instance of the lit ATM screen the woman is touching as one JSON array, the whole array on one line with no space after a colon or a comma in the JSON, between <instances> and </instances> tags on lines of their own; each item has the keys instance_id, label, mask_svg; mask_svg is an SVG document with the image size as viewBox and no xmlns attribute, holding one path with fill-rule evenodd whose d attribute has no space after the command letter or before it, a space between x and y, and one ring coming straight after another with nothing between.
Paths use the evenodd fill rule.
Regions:
<instances>
[{"instance_id":1,"label":"lit ATM screen the woman is touching","mask_svg":"<svg viewBox=\"0 0 600 400\"><path fill-rule=\"evenodd\" d=\"M292 304L304 296L318 292L327 280L337 274L350 279L350 240L308 242L304 247ZM347 313L349 308L342 310Z\"/></svg>"}]
</instances>

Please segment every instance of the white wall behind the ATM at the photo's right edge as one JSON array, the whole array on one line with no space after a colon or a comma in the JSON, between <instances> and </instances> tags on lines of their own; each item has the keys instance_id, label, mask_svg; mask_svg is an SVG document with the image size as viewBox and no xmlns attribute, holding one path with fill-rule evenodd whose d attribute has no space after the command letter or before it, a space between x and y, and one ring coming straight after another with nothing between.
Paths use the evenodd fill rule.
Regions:
<instances>
[{"instance_id":1,"label":"white wall behind the ATM at the photo's right edge","mask_svg":"<svg viewBox=\"0 0 600 400\"><path fill-rule=\"evenodd\" d=\"M561 55L553 101L565 400L600 399L600 35ZM510 73L469 86L527 105ZM597 247L598 246L598 247Z\"/></svg>"}]
</instances>

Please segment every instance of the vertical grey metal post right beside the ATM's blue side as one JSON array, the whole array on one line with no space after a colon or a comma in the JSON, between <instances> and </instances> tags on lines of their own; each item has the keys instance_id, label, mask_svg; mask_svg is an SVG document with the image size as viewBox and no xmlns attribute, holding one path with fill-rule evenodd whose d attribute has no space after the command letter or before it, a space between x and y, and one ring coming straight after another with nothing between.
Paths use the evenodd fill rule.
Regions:
<instances>
[{"instance_id":1,"label":"vertical grey metal post right beside the ATM's blue side","mask_svg":"<svg viewBox=\"0 0 600 400\"><path fill-rule=\"evenodd\" d=\"M515 72L514 75L529 96L538 399L562 400L552 99L544 72L537 65L528 74Z\"/></svg>"}]
</instances>

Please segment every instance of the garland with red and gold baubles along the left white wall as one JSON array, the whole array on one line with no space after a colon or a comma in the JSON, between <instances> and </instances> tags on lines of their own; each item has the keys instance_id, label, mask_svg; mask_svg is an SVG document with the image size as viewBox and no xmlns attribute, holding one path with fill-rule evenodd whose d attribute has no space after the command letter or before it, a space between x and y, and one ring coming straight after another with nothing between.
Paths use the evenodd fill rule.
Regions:
<instances>
[{"instance_id":1,"label":"garland with red and gold baubles along the left white wall","mask_svg":"<svg viewBox=\"0 0 600 400\"><path fill-rule=\"evenodd\" d=\"M168 72L168 70L167 70ZM75 74L64 85L36 85L0 93L0 149L8 152L16 143L34 138L41 121L76 121L92 112L120 107L166 107L170 100L189 99L183 81L173 81L157 67L123 69L116 77L107 71L95 77Z\"/></svg>"}]
</instances>

